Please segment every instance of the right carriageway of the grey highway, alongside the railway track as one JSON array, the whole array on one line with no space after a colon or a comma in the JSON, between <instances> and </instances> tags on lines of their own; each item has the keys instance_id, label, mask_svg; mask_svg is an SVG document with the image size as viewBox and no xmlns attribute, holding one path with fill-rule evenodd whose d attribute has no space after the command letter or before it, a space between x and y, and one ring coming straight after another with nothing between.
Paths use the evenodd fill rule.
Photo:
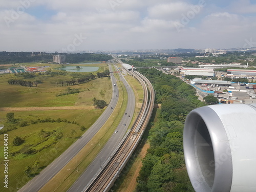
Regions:
<instances>
[{"instance_id":1,"label":"right carriageway of the grey highway, alongside the railway track","mask_svg":"<svg viewBox=\"0 0 256 192\"><path fill-rule=\"evenodd\" d=\"M70 187L69 192L79 191L81 192L84 187L88 185L88 183L93 179L93 177L101 170L102 165L105 161L111 156L111 154L116 150L117 146L123 139L125 132L127 131L127 126L129 126L132 116L135 110L135 95L132 88L126 82L124 76L121 73L118 73L120 76L120 80L124 83L128 94L128 103L126 109L126 115L123 115L119 125L116 128L117 133L114 133L109 141L102 148L101 152L95 158L95 160L88 166L86 171L79 177L79 179ZM128 117L130 115L131 117ZM123 124L126 124L124 126Z\"/></svg>"}]
</instances>

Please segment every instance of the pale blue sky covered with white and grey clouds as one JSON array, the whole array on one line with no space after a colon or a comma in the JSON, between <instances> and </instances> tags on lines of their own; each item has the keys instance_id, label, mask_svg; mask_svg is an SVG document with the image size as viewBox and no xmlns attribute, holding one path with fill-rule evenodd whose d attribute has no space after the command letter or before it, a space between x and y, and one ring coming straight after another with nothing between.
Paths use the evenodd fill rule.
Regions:
<instances>
[{"instance_id":1,"label":"pale blue sky covered with white and grey clouds","mask_svg":"<svg viewBox=\"0 0 256 192\"><path fill-rule=\"evenodd\" d=\"M256 47L256 0L1 0L0 51Z\"/></svg>"}]
</instances>

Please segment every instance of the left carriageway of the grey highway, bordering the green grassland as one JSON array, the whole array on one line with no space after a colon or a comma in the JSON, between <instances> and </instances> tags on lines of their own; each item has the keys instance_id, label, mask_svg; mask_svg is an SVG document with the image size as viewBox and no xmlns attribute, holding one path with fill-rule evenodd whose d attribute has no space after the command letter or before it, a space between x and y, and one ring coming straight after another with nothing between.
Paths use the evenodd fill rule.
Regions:
<instances>
[{"instance_id":1,"label":"left carriageway of the grey highway, bordering the green grassland","mask_svg":"<svg viewBox=\"0 0 256 192\"><path fill-rule=\"evenodd\" d=\"M110 71L112 71L112 66L110 66ZM116 82L116 78L111 76L111 81ZM50 165L48 165L42 172L29 181L26 185L20 188L18 191L22 192L35 192L38 191L42 186L44 186L48 181L51 180L59 170L64 167L72 158L74 158L78 152L91 140L91 138L100 130L101 126L105 123L106 120L111 116L113 109L117 104L119 90L117 86L113 86L112 99L102 113L102 115L97 119L97 121L90 127L90 129L84 133L81 138L79 138L75 143L73 143L63 154L56 158ZM132 112L132 111L131 111ZM132 116L132 115L131 115ZM122 119L122 122L126 122L127 119ZM121 134L122 132L118 132ZM120 135L119 135L120 136Z\"/></svg>"}]
</instances>

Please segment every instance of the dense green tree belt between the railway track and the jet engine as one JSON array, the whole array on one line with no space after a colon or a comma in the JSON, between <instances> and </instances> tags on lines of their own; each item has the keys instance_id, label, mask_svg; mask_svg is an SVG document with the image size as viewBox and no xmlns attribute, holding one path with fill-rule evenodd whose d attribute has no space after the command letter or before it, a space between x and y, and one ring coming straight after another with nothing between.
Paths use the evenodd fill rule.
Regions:
<instances>
[{"instance_id":1,"label":"dense green tree belt between the railway track and the jet engine","mask_svg":"<svg viewBox=\"0 0 256 192\"><path fill-rule=\"evenodd\" d=\"M196 91L179 78L156 69L139 69L154 86L156 103L161 104L157 120L151 123L150 148L142 160L136 191L194 191L183 155L183 125L186 115L204 106Z\"/></svg>"}]
</instances>

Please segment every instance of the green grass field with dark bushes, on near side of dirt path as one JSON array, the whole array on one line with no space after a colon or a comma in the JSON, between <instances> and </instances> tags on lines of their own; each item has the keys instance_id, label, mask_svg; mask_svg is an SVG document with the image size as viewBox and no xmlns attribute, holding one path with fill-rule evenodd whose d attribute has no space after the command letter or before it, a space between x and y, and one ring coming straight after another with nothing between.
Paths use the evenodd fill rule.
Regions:
<instances>
[{"instance_id":1,"label":"green grass field with dark bushes, on near side of dirt path","mask_svg":"<svg viewBox=\"0 0 256 192\"><path fill-rule=\"evenodd\" d=\"M90 115L88 115L90 113ZM79 123L72 124L67 122L45 122L45 123L36 123L19 127L18 129L8 132L8 152L9 152L9 189L21 187L24 185L30 178L24 174L24 169L26 166L33 167L35 161L39 160L39 166L33 169L32 174L36 175L40 172L41 169L46 167L51 161L63 153L68 146L70 146L80 135L84 133L80 130L80 126L83 125L87 129L91 126L101 114L100 110L68 110L68 111L28 111L28 112L14 112L14 117L19 120L36 120L36 119L45 119L50 117L51 119L67 119L68 121L75 121ZM1 117L6 115L6 112L0 112ZM3 124L3 119L1 120ZM8 123L4 123L8 126ZM41 130L45 132L61 132L63 137L59 140L54 139L54 133L48 137L40 137L38 134ZM74 135L71 134L71 130L75 130ZM14 137L20 136L25 139L25 142L19 146L13 146L12 141ZM0 146L4 146L4 135L0 135ZM39 144L38 144L39 143ZM40 151L35 154L26 155L24 154L28 148L31 150ZM0 148L0 154L3 154L3 147ZM15 154L12 156L12 154ZM3 155L1 155L1 164L0 170L4 170ZM33 176L32 175L32 176ZM0 172L0 177L4 178L4 173ZM1 191L9 191L3 188L1 185Z\"/></svg>"}]
</instances>

